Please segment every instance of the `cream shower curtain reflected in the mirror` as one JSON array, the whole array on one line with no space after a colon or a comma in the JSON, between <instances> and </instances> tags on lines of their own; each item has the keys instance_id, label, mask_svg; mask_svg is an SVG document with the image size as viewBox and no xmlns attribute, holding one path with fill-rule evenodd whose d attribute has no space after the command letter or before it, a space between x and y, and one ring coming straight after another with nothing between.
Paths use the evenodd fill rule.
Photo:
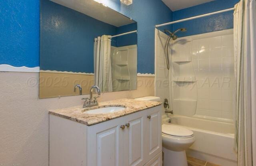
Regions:
<instances>
[{"instance_id":1,"label":"cream shower curtain reflected in the mirror","mask_svg":"<svg viewBox=\"0 0 256 166\"><path fill-rule=\"evenodd\" d=\"M94 80L102 92L112 92L111 36L94 39Z\"/></svg>"}]
</instances>

